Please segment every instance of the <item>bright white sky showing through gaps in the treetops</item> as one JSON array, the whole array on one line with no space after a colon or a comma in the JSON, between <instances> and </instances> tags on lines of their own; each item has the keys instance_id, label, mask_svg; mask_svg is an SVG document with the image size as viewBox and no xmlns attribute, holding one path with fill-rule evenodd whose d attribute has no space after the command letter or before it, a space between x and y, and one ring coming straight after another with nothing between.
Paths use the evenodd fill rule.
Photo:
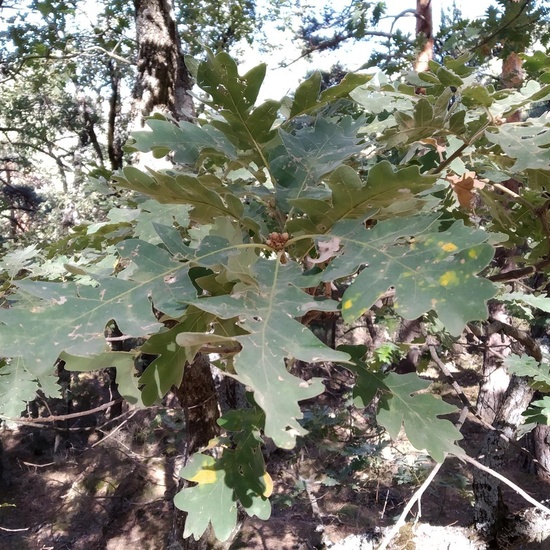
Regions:
<instances>
[{"instance_id":1,"label":"bright white sky showing through gaps in the treetops","mask_svg":"<svg viewBox=\"0 0 550 550\"><path fill-rule=\"evenodd\" d=\"M343 8L349 5L350 0L331 0L330 4L335 8ZM485 10L494 4L493 0L455 0L454 2L466 16L475 19L481 17ZM326 2L324 0L313 0L311 5L319 4L321 9ZM432 0L432 12L434 18L434 26L439 27L441 10L450 8L453 5L452 0ZM416 7L415 0L388 0L387 15L398 15L405 10L414 9ZM375 30L390 32L393 19L388 18L380 23L380 26ZM415 32L415 18L412 14L399 18L396 26L405 33ZM275 39L278 38L276 32L273 33ZM283 35L281 34L281 40ZM271 38L271 37L270 37ZM267 63L268 72L266 81L263 86L260 100L281 99L287 93L293 91L304 75L312 69L328 70L337 62L340 62L349 70L356 70L361 67L370 54L370 47L365 43L364 46L344 46L334 52L323 52L315 54L311 61L300 59L292 63L286 68L280 67L281 63L288 60L295 60L300 57L300 49L298 45L286 41L282 43L282 47L278 52L271 55L262 54L258 51L246 52L244 62L241 65L241 71L248 70L259 63ZM364 49L362 49L364 48Z\"/></svg>"}]
</instances>

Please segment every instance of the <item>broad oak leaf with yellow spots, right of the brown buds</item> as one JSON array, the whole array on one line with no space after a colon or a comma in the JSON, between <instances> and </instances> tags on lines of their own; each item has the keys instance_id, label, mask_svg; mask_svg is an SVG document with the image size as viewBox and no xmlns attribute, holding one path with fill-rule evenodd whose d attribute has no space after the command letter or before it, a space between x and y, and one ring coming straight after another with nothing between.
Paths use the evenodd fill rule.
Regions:
<instances>
[{"instance_id":1,"label":"broad oak leaf with yellow spots, right of the brown buds","mask_svg":"<svg viewBox=\"0 0 550 550\"><path fill-rule=\"evenodd\" d=\"M370 229L344 220L333 227L330 236L340 240L341 248L323 280L334 281L362 268L342 297L346 322L360 317L390 287L395 288L399 315L416 319L434 310L453 335L468 321L487 317L486 302L496 289L476 276L493 257L487 233L462 222L438 232L436 218L395 218Z\"/></svg>"}]
</instances>

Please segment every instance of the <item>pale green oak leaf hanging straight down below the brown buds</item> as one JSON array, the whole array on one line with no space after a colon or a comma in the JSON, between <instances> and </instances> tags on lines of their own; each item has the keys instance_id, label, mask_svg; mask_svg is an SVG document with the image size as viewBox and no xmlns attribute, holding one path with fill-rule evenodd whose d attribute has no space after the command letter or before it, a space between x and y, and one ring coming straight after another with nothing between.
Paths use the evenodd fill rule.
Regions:
<instances>
[{"instance_id":1,"label":"pale green oak leaf hanging straight down below the brown buds","mask_svg":"<svg viewBox=\"0 0 550 550\"><path fill-rule=\"evenodd\" d=\"M239 318L248 334L236 335L242 350L235 356L236 377L254 392L266 415L265 433L276 445L292 448L296 436L305 434L298 423L298 402L322 392L319 380L304 382L292 376L285 359L347 361L348 355L332 350L295 320L308 311L334 311L336 302L319 301L304 292L312 285L295 262L259 259L253 270L257 286L232 296L212 296L191 301L197 308L222 319ZM316 279L318 281L318 278Z\"/></svg>"}]
</instances>

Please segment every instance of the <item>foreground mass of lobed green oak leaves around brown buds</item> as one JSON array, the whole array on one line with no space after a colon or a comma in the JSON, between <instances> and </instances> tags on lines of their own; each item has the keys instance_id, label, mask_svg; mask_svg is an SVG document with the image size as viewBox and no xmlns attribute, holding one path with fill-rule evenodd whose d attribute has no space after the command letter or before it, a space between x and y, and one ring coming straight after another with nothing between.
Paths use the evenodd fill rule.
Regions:
<instances>
[{"instance_id":1,"label":"foreground mass of lobed green oak leaves around brown buds","mask_svg":"<svg viewBox=\"0 0 550 550\"><path fill-rule=\"evenodd\" d=\"M265 67L241 76L230 56L211 51L190 64L208 94L207 116L197 127L157 117L130 144L158 157L173 152L180 164L126 167L114 176L141 195L137 216L113 215L95 254L86 250L93 233L81 234L78 265L66 262L71 280L38 280L32 261L29 276L9 279L9 307L0 310L7 358L0 395L9 395L2 414L18 414L33 389L56 394L57 358L73 370L113 365L129 400L151 404L181 383L186 362L216 349L217 365L250 390L251 407L223 417L217 458L199 454L182 471L197 484L176 498L189 514L186 535L195 537L208 522L228 537L237 501L268 516L261 435L292 448L305 433L299 402L322 391L319 380L289 372L294 360L347 365L357 375L356 403L379 395L378 420L391 435L403 427L439 461L460 454L460 433L440 418L453 408L423 393L416 374L371 372L364 350L333 350L308 323L339 312L353 321L391 295L402 317L437 318L438 330L457 336L467 322L486 318L498 291L485 277L495 246L508 236L533 255L544 246L536 212L545 200L528 191L549 173L524 148L510 149L510 136L521 135L502 114L550 91L527 83L474 93L479 85L466 61L434 62L405 83L354 75L324 92L313 75L293 98L259 105ZM419 82L425 95L415 93ZM449 82L461 82L466 98L454 113ZM525 127L539 135L548 124L539 118ZM446 179L467 170L485 184L469 212ZM529 198L510 206L495 183L512 177ZM152 200L181 210L155 220ZM528 235L514 234L518 223L477 227L480 216L523 219L525 209L533 213ZM109 354L103 336L111 320L127 335L148 337L132 352L157 356L141 377L132 372L132 353Z\"/></svg>"}]
</instances>

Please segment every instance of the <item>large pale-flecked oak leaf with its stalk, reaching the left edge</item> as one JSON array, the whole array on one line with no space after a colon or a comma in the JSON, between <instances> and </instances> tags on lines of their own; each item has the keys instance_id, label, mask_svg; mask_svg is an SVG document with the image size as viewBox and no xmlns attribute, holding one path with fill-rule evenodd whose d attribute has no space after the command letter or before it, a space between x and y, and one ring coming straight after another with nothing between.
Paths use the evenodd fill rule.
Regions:
<instances>
[{"instance_id":1,"label":"large pale-flecked oak leaf with its stalk, reaching the left edge","mask_svg":"<svg viewBox=\"0 0 550 550\"><path fill-rule=\"evenodd\" d=\"M214 236L186 250L195 265L211 266L224 263L229 248L227 240ZM43 376L61 351L76 356L105 351L104 330L111 320L123 334L139 337L162 326L153 305L166 315L181 316L186 300L197 295L189 262L176 261L163 248L139 239L123 241L117 249L126 269L118 277L98 278L97 286L18 281L19 306L0 309L3 355L21 357L32 374Z\"/></svg>"}]
</instances>

